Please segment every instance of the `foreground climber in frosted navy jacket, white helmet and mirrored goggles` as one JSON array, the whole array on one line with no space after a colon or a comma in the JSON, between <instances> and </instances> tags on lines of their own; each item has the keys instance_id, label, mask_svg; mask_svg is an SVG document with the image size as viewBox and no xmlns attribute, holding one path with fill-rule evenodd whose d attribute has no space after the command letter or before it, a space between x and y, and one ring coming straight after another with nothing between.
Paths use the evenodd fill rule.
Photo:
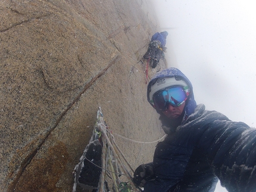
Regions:
<instances>
[{"instance_id":1,"label":"foreground climber in frosted navy jacket, white helmet and mirrored goggles","mask_svg":"<svg viewBox=\"0 0 256 192\"><path fill-rule=\"evenodd\" d=\"M149 81L148 102L160 114L166 139L133 181L145 192L256 191L256 129L196 105L193 87L176 68Z\"/></svg>"}]
</instances>

